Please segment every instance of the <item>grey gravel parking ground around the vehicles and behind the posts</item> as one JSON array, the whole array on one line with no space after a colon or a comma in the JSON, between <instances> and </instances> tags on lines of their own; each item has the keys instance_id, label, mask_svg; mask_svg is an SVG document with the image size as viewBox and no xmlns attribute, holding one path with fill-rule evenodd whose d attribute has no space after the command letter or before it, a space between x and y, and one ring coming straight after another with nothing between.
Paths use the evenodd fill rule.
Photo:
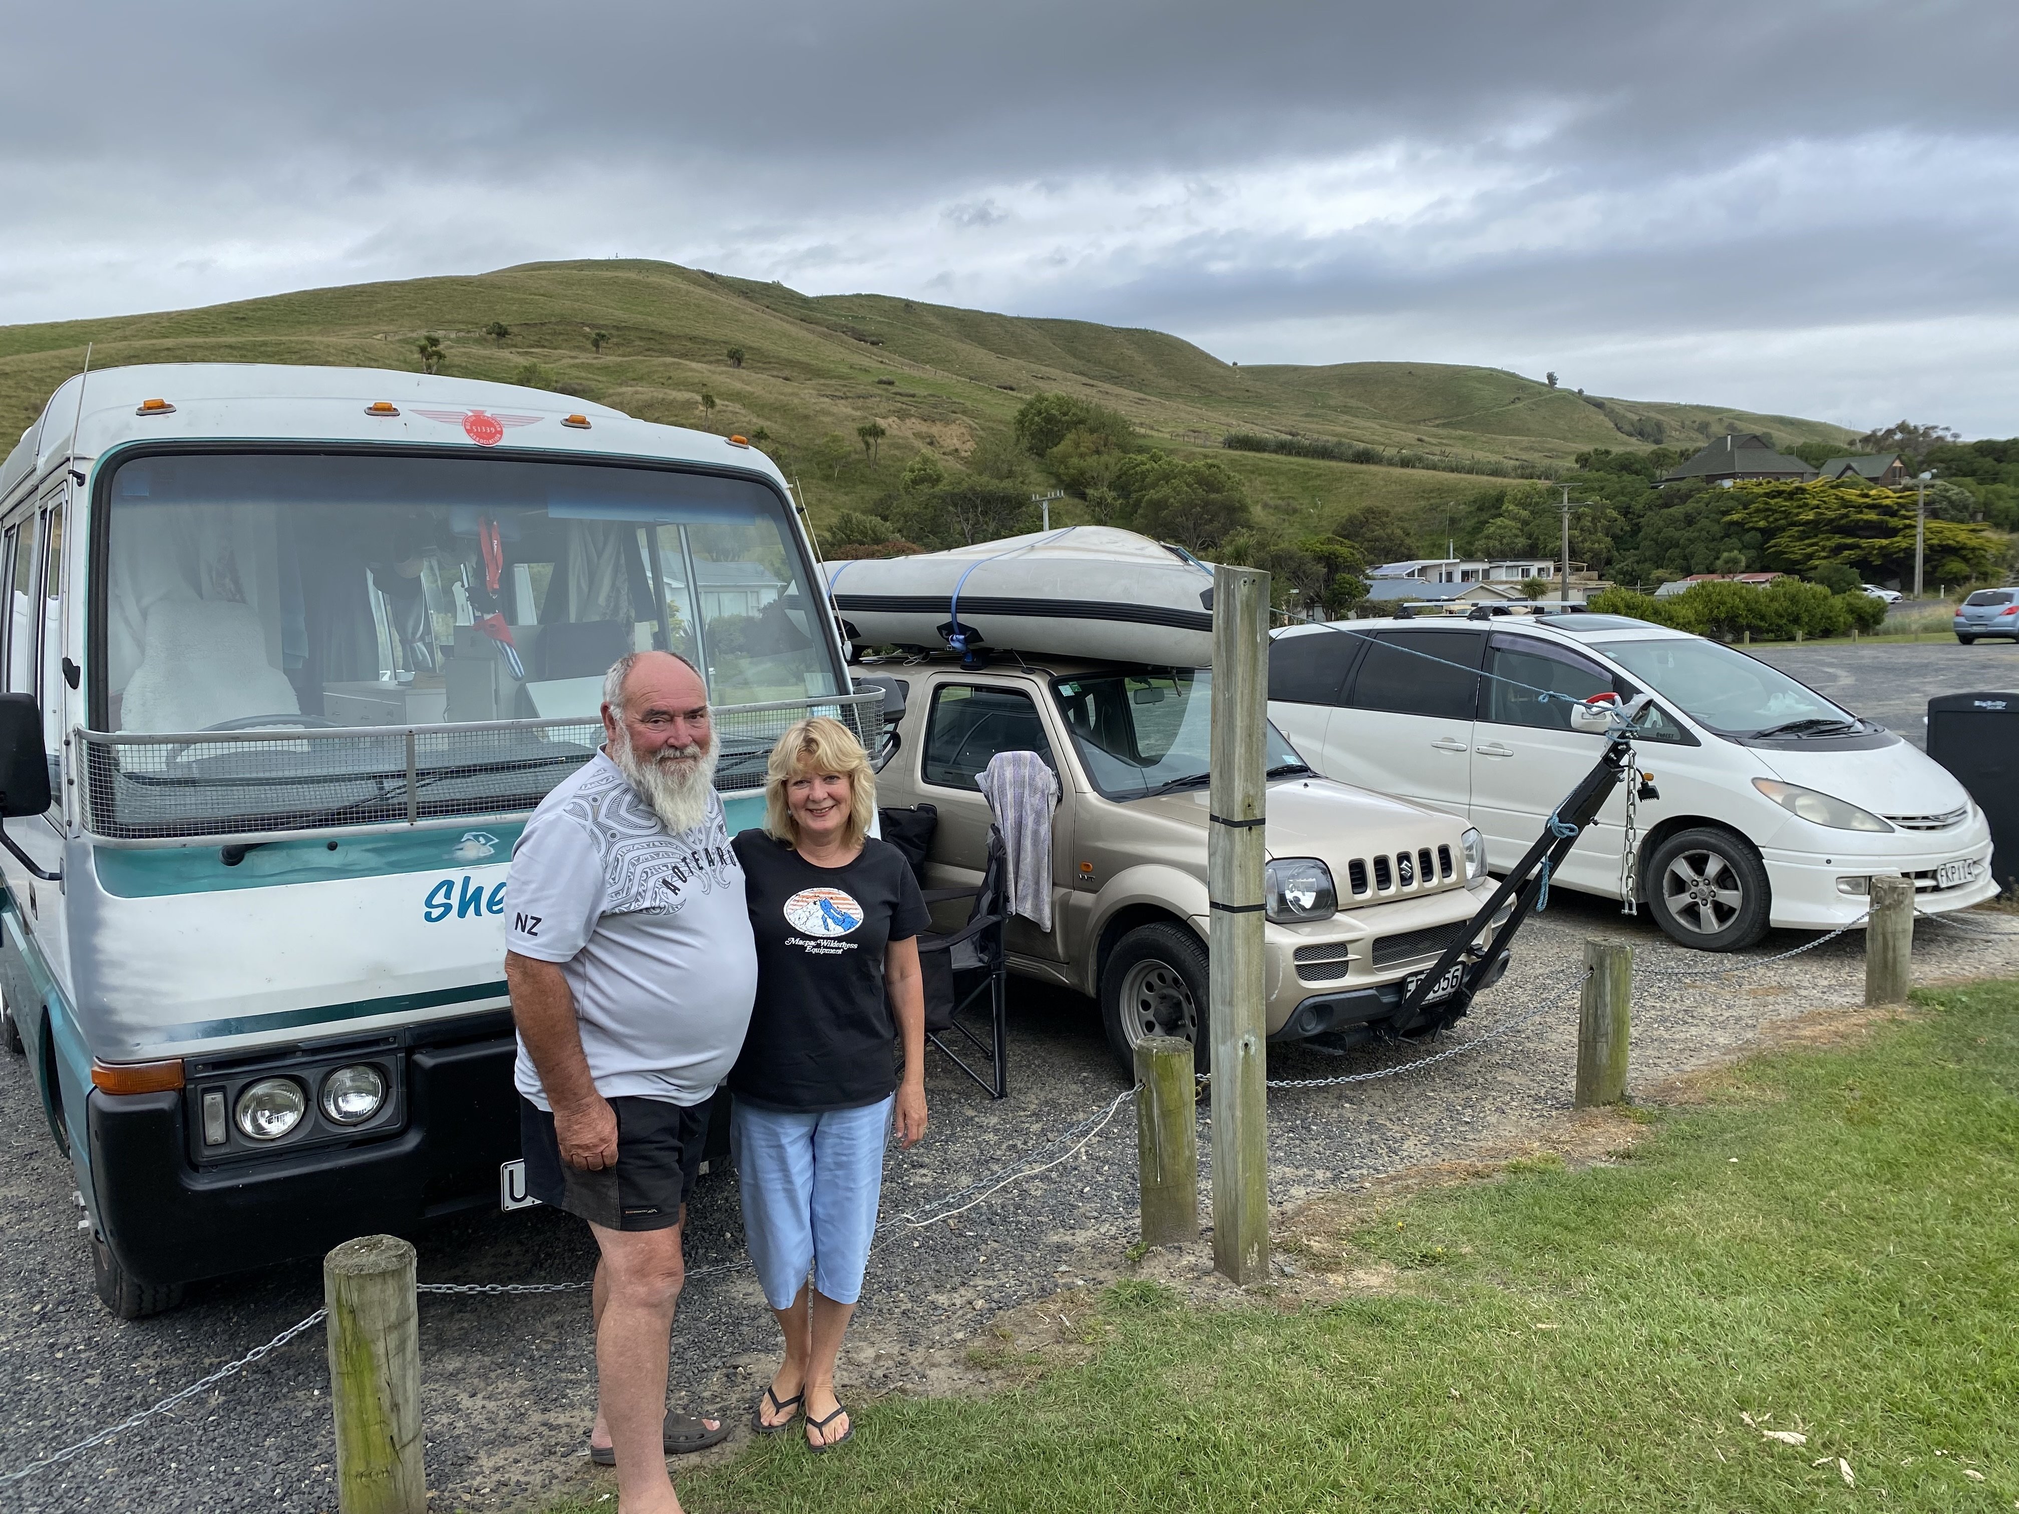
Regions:
<instances>
[{"instance_id":1,"label":"grey gravel parking ground around the vehicles and behind the posts","mask_svg":"<svg viewBox=\"0 0 2019 1514\"><path fill-rule=\"evenodd\" d=\"M1849 709L1920 741L1936 692L2019 688L2019 648L1761 648ZM1977 916L1999 937L1924 923L1922 983L2019 975L2019 918ZM1282 1090L1270 1100L1272 1201L1306 1197L1419 1163L1464 1159L1534 1137L1571 1098L1575 1001L1563 989L1593 935L1633 941L1641 967L1710 973L1730 959L1672 947L1615 904L1557 890L1516 943L1508 979L1454 1040L1512 1023L1490 1046L1379 1082ZM1813 941L1771 935L1752 957ZM1857 935L1730 979L1635 981L1633 1086L1645 1088L1730 1056L1775 1021L1853 1005ZM933 1060L933 1132L892 1153L886 1217L929 1211L1058 1134L1125 1090L1092 1005L1018 985L1012 1096L991 1104ZM1532 1019L1530 1009L1543 1009ZM1397 1066L1431 1048L1324 1056L1280 1050L1272 1078L1329 1078ZM168 1316L113 1322L91 1294L85 1237L40 1104L18 1058L0 1056L0 1474L109 1425L271 1338L321 1304L315 1264L273 1268L192 1290ZM1123 1268L1135 1237L1135 1116L1114 1118L1068 1157L949 1221L882 1237L844 1359L844 1391L959 1391L965 1344L1005 1308ZM422 1237L424 1282L577 1282L592 1243L545 1209L483 1215ZM775 1328L739 1266L733 1177L703 1183L690 1211L693 1282L674 1328L676 1401L743 1419L773 1361ZM581 1292L422 1300L428 1474L438 1508L523 1508L565 1492L608 1490L583 1455L594 1409L588 1300ZM16 1484L0 1506L24 1510L333 1510L331 1427L321 1330L204 1397L107 1445Z\"/></svg>"}]
</instances>

